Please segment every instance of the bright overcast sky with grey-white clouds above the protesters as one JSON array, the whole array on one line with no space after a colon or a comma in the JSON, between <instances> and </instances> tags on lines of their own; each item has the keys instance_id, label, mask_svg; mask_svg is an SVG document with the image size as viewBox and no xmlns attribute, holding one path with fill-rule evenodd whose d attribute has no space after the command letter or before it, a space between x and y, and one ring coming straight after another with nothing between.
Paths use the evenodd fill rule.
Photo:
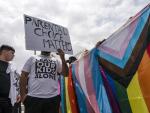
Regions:
<instances>
[{"instance_id":1,"label":"bright overcast sky with grey-white clouds above the protesters","mask_svg":"<svg viewBox=\"0 0 150 113\"><path fill-rule=\"evenodd\" d=\"M23 15L40 18L69 30L74 54L106 39L149 0L1 0L0 45L16 49L14 62L20 71L34 52L25 50Z\"/></svg>"}]
</instances>

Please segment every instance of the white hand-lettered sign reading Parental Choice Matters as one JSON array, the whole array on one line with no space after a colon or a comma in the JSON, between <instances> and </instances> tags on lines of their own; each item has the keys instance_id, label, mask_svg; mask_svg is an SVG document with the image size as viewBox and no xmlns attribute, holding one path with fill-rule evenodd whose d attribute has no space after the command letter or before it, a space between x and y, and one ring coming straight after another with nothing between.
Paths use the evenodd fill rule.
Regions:
<instances>
[{"instance_id":1,"label":"white hand-lettered sign reading Parental Choice Matters","mask_svg":"<svg viewBox=\"0 0 150 113\"><path fill-rule=\"evenodd\" d=\"M66 54L73 54L67 28L28 15L24 15L24 24L27 50L62 49Z\"/></svg>"}]
</instances>

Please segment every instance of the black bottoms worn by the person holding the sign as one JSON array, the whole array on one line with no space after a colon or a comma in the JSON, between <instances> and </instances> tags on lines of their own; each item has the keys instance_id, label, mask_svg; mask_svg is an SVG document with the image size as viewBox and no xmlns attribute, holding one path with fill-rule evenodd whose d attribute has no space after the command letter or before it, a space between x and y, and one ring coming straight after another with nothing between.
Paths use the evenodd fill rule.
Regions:
<instances>
[{"instance_id":1,"label":"black bottoms worn by the person holding the sign","mask_svg":"<svg viewBox=\"0 0 150 113\"><path fill-rule=\"evenodd\" d=\"M52 98L27 96L23 104L25 113L59 113L60 95Z\"/></svg>"}]
</instances>

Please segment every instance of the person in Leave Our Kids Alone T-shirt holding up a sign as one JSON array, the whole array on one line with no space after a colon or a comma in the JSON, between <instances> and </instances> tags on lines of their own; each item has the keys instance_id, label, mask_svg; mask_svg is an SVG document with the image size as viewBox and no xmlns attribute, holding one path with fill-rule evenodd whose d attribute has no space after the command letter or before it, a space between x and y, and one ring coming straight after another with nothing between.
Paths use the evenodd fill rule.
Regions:
<instances>
[{"instance_id":1,"label":"person in Leave Our Kids Alone T-shirt holding up a sign","mask_svg":"<svg viewBox=\"0 0 150 113\"><path fill-rule=\"evenodd\" d=\"M20 78L20 95L25 113L59 113L59 75L68 76L65 55L58 49L58 58L50 52L30 57L25 63ZM60 74L58 74L60 73Z\"/></svg>"}]
</instances>

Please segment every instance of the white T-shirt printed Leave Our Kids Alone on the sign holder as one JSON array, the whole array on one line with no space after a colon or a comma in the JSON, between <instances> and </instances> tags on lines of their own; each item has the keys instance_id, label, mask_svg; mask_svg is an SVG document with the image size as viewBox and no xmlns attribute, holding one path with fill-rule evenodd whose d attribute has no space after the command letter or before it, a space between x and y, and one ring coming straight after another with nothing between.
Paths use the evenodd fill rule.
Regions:
<instances>
[{"instance_id":1,"label":"white T-shirt printed Leave Our Kids Alone on the sign holder","mask_svg":"<svg viewBox=\"0 0 150 113\"><path fill-rule=\"evenodd\" d=\"M29 72L28 94L39 98L51 98L58 95L58 74L62 62L55 57L33 56L25 63L22 71Z\"/></svg>"}]
</instances>

